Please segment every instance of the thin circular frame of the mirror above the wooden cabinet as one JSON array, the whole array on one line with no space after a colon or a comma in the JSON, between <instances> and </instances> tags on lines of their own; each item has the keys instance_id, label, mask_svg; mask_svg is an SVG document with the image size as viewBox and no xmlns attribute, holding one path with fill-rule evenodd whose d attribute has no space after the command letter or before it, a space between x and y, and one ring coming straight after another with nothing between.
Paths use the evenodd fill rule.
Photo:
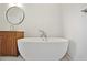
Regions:
<instances>
[{"instance_id":1,"label":"thin circular frame of the mirror above the wooden cabinet","mask_svg":"<svg viewBox=\"0 0 87 65\"><path fill-rule=\"evenodd\" d=\"M19 21L18 23L12 23L12 22L9 21L9 19L8 19L8 12L9 12L10 9L12 9L12 8L18 8L18 9L20 9L20 10L22 10L22 12L23 12L23 18L22 18L22 20ZM10 7L10 8L6 11L6 19L7 19L7 21L8 21L10 24L19 25L19 24L21 24L21 23L23 22L24 18L25 18L25 13L24 13L23 9L21 9L20 7L17 7L17 6L14 6L14 7Z\"/></svg>"}]
</instances>

